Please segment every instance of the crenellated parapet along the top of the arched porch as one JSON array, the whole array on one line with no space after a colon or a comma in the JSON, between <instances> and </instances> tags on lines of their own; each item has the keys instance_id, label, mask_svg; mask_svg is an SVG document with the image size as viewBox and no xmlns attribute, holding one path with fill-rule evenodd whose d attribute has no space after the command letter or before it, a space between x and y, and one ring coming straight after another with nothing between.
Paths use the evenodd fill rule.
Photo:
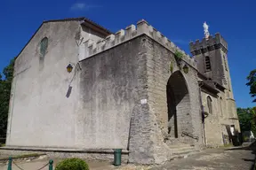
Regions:
<instances>
[{"instance_id":1,"label":"crenellated parapet along the top of the arched porch","mask_svg":"<svg viewBox=\"0 0 256 170\"><path fill-rule=\"evenodd\" d=\"M85 58L90 58L104 50L108 50L116 45L130 41L140 35L148 35L150 38L163 45L166 49L171 50L172 53L179 50L184 55L184 58L182 59L188 63L188 65L196 67L196 61L194 58L190 58L184 50L180 50L179 47L177 47L162 33L157 31L156 28L150 26L144 19L137 22L137 26L131 25L126 27L125 30L121 29L116 32L115 35L108 35L105 39L100 39L98 42L93 42L91 39L87 40L82 44L82 46L80 46L79 60L81 61Z\"/></svg>"}]
</instances>

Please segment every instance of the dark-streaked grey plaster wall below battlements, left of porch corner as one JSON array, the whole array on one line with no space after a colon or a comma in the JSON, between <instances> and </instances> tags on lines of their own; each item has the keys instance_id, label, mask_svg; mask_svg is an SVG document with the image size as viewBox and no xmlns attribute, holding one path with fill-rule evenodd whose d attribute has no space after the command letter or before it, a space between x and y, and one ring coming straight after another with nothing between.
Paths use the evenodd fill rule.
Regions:
<instances>
[{"instance_id":1,"label":"dark-streaked grey plaster wall below battlements, left of porch corner","mask_svg":"<svg viewBox=\"0 0 256 170\"><path fill-rule=\"evenodd\" d=\"M142 110L147 114L147 108L140 105L145 62L140 38L81 61L80 110L83 112L79 112L76 127L79 145L127 149L132 114ZM140 126L143 128L143 124Z\"/></svg>"}]
</instances>

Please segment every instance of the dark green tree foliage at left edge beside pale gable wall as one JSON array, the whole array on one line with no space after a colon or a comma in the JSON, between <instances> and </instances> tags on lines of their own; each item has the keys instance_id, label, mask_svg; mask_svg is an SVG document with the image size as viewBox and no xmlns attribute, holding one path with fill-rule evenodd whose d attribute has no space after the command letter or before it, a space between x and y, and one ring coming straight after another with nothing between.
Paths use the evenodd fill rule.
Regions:
<instances>
[{"instance_id":1,"label":"dark green tree foliage at left edge beside pale gable wall","mask_svg":"<svg viewBox=\"0 0 256 170\"><path fill-rule=\"evenodd\" d=\"M4 67L3 74L0 73L0 136L6 135L9 100L12 87L12 76L14 68L14 59L9 66Z\"/></svg>"}]
</instances>

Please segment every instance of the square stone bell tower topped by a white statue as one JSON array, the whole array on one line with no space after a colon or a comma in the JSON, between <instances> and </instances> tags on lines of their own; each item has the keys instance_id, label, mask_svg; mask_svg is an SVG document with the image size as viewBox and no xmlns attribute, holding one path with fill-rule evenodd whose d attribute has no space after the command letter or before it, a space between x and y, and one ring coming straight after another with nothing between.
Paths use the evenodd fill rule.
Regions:
<instances>
[{"instance_id":1,"label":"square stone bell tower topped by a white statue","mask_svg":"<svg viewBox=\"0 0 256 170\"><path fill-rule=\"evenodd\" d=\"M220 35L210 35L209 26L204 22L204 38L200 42L190 42L190 52L196 59L198 71L225 88L221 98L225 98L226 112L229 118L237 118L236 102L233 96L228 66L228 43Z\"/></svg>"}]
</instances>

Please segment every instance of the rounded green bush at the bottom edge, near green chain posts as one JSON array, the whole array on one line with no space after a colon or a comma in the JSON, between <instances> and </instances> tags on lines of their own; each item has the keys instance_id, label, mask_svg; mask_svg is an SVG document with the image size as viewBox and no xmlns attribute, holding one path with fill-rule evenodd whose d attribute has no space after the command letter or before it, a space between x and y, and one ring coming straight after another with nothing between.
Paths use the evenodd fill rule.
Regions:
<instances>
[{"instance_id":1,"label":"rounded green bush at the bottom edge, near green chain posts","mask_svg":"<svg viewBox=\"0 0 256 170\"><path fill-rule=\"evenodd\" d=\"M89 166L81 158L66 158L58 163L55 170L89 170Z\"/></svg>"}]
</instances>

